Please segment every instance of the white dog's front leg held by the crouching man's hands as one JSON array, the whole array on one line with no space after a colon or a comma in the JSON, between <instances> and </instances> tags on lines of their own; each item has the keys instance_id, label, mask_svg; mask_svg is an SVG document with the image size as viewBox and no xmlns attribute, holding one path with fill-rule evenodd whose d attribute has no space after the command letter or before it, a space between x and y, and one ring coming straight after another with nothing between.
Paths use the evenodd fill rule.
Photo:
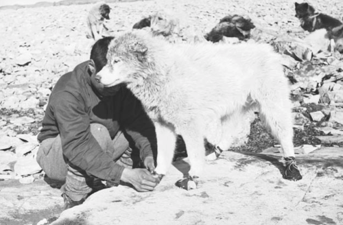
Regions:
<instances>
[{"instance_id":1,"label":"white dog's front leg held by the crouching man's hands","mask_svg":"<svg viewBox=\"0 0 343 225\"><path fill-rule=\"evenodd\" d=\"M176 147L176 134L173 129L154 123L157 139L157 167L156 174L165 175L171 166Z\"/></svg>"}]
</instances>

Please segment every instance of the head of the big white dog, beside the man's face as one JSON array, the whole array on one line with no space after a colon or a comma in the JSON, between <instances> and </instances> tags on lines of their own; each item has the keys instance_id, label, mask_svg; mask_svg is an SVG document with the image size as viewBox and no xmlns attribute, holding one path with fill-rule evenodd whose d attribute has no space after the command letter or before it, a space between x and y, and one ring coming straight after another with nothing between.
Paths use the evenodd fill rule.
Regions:
<instances>
[{"instance_id":1,"label":"head of the big white dog, beside the man's face","mask_svg":"<svg viewBox=\"0 0 343 225\"><path fill-rule=\"evenodd\" d=\"M143 68L149 68L146 40L137 32L128 32L112 40L106 66L97 73L104 86L141 84L146 78Z\"/></svg>"}]
</instances>

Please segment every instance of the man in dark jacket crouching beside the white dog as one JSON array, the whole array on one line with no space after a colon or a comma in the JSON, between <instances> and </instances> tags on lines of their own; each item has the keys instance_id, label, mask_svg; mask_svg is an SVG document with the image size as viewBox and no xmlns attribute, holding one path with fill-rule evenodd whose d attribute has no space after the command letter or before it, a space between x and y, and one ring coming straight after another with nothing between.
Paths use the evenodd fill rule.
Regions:
<instances>
[{"instance_id":1,"label":"man in dark jacket crouching beside the white dog","mask_svg":"<svg viewBox=\"0 0 343 225\"><path fill-rule=\"evenodd\" d=\"M159 182L152 175L156 133L141 102L125 86L105 88L97 80L112 39L97 40L91 60L60 77L38 134L38 164L49 178L65 181L64 209L103 189L102 180L137 191L152 191Z\"/></svg>"}]
</instances>

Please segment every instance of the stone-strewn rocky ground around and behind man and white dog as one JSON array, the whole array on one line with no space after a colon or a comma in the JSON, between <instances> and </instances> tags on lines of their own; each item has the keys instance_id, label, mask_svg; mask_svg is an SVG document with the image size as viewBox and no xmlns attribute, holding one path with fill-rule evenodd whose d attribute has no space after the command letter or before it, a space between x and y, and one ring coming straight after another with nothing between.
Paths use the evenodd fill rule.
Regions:
<instances>
[{"instance_id":1,"label":"stone-strewn rocky ground around and behind man and white dog","mask_svg":"<svg viewBox=\"0 0 343 225\"><path fill-rule=\"evenodd\" d=\"M342 1L310 3L321 12L342 18ZM299 27L294 16L294 1L134 1L109 5L113 10L106 23L113 34L130 29L142 16L161 9L174 12L183 26L189 25L202 34L209 32L227 14L250 16L256 25L252 41L270 43L283 55L285 75L292 83L296 152L304 156L310 152L329 151L325 154L328 161L340 155L343 147L343 56L338 52L318 52L318 48L323 47L315 44L314 38ZM90 8L91 4L82 4L1 10L0 224L48 224L61 212L60 184L45 178L35 163L36 134L51 88L60 75L89 57L92 40L86 38L85 19ZM320 40L320 44L326 41L315 39ZM312 45L305 45L303 40ZM231 150L275 154L278 147L279 143L261 126L257 116L247 143ZM341 172L337 166L341 168L342 164L335 164L333 168L338 171L331 176L334 182ZM311 171L312 175L315 171ZM304 187L311 187L306 185ZM337 191L335 195L342 196L342 192ZM316 196L313 198L316 201ZM341 215L338 209L343 211L342 205L340 207L332 208L337 215ZM340 218L336 216L333 222L339 224ZM306 220L307 224L333 224L318 217L310 219ZM259 221L257 224L268 223Z\"/></svg>"}]
</instances>

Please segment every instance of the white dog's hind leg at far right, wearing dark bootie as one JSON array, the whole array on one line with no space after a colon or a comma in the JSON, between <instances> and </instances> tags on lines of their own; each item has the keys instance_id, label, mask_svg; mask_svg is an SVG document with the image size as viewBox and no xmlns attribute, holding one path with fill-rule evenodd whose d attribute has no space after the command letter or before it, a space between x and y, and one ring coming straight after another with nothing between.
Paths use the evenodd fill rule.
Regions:
<instances>
[{"instance_id":1,"label":"white dog's hind leg at far right, wearing dark bootie","mask_svg":"<svg viewBox=\"0 0 343 225\"><path fill-rule=\"evenodd\" d=\"M295 163L293 145L293 126L289 93L283 88L284 84L274 85L274 90L261 88L259 99L260 116L265 125L270 128L274 137L281 143L286 162L284 178L300 180L303 178ZM275 89L278 88L278 89Z\"/></svg>"}]
</instances>

